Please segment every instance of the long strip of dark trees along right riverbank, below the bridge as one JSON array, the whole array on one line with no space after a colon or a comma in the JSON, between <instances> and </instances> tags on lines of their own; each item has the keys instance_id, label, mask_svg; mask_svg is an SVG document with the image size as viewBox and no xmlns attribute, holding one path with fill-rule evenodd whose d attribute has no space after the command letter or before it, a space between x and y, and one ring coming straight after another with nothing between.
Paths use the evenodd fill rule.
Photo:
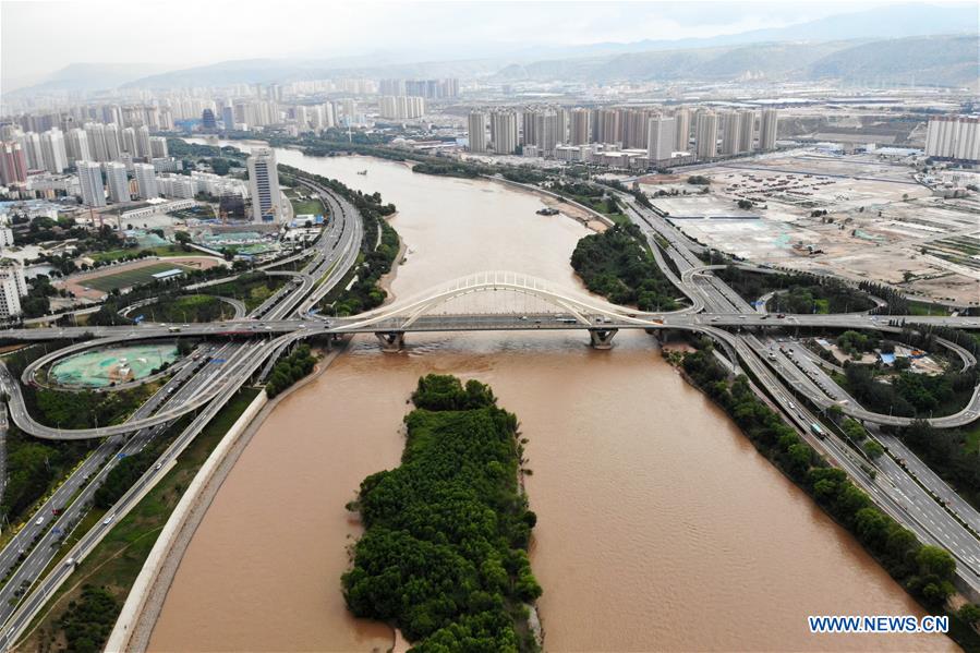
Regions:
<instances>
[{"instance_id":1,"label":"long strip of dark trees along right riverbank, below the bridge","mask_svg":"<svg viewBox=\"0 0 980 653\"><path fill-rule=\"evenodd\" d=\"M745 376L727 378L710 346L683 358L688 376L714 399L752 444L851 531L910 593L941 609L954 593L956 563L945 549L916 535L880 510L840 469L831 468L778 413L760 400Z\"/></svg>"}]
</instances>

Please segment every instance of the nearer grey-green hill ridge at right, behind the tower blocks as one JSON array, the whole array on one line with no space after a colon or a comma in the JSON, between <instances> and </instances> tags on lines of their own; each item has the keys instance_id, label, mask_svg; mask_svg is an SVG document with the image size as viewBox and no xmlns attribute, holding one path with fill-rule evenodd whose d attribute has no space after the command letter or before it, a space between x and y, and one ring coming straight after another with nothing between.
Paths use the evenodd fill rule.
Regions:
<instances>
[{"instance_id":1,"label":"nearer grey-green hill ridge at right, behind the tower blocks","mask_svg":"<svg viewBox=\"0 0 980 653\"><path fill-rule=\"evenodd\" d=\"M980 38L976 35L766 43L511 64L493 78L498 82L838 80L977 88L978 49Z\"/></svg>"}]
</instances>

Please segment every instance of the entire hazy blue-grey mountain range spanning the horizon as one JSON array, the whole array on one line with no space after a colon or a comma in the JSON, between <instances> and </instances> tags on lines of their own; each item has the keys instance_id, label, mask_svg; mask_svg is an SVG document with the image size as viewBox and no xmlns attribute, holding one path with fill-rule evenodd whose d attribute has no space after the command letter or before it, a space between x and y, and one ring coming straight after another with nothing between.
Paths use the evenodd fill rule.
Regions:
<instances>
[{"instance_id":1,"label":"entire hazy blue-grey mountain range spanning the horizon","mask_svg":"<svg viewBox=\"0 0 980 653\"><path fill-rule=\"evenodd\" d=\"M453 59L436 46L330 59L252 59L167 71L80 63L10 96L57 90L173 88L330 76L518 81L842 80L978 88L980 5L900 4L711 38L585 46L474 46ZM935 36L940 35L940 36ZM445 59L444 59L445 58Z\"/></svg>"}]
</instances>

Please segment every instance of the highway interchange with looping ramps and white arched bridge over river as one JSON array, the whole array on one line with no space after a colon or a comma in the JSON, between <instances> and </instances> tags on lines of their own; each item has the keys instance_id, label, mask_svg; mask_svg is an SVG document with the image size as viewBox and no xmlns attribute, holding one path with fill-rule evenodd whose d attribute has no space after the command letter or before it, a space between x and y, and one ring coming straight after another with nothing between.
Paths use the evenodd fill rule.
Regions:
<instances>
[{"instance_id":1,"label":"highway interchange with looping ramps and white arched bridge over river","mask_svg":"<svg viewBox=\"0 0 980 653\"><path fill-rule=\"evenodd\" d=\"M648 238L661 268L690 300L689 307L669 313L637 312L595 298L554 290L515 273L481 273L449 282L421 298L398 301L362 315L324 318L315 313L315 306L355 269L364 239L363 225L356 209L342 196L306 178L295 181L320 195L331 219L313 246L289 258L302 262L302 269L271 273L289 276L290 282L246 316L237 315L233 319L210 324L48 327L3 332L4 339L13 341L82 340L71 349L45 356L40 364L50 364L65 353L109 343L172 339L176 334L203 340L192 354L194 363L178 368L130 420L97 428L69 431L38 423L24 406L22 379L13 378L0 365L0 387L9 398L10 418L21 430L48 439L105 438L0 551L0 577L9 576L0 587L0 650L8 649L16 640L48 596L72 573L74 565L170 470L177 457L238 389L250 379L264 378L278 355L291 343L315 335L376 334L383 346L387 339L388 346L394 342L397 349L404 334L424 331L579 329L592 334L594 343L596 335L607 343L618 329L683 329L705 334L722 346L736 368L750 373L757 391L777 407L811 446L846 470L879 506L923 542L948 549L957 559L960 588L980 595L980 515L897 438L881 433L875 426L905 425L909 420L866 410L823 372L820 361L806 352L806 348L782 336L787 330L808 327L898 331L903 319L971 329L980 328L980 318L903 318L862 313L781 318L760 313L714 276L712 266L705 266L698 258L698 254L703 253L701 245L626 194L620 195L620 199L628 207L630 218ZM662 251L664 243L666 246ZM672 270L665 255L679 276ZM498 289L533 294L556 306L557 312L437 313L452 299ZM778 329L777 336L771 335L774 327ZM784 350L795 355L787 355ZM957 353L965 366L976 364L968 352L966 355ZM40 364L26 370L24 379L29 382ZM872 435L887 447L888 455L872 461L833 433L825 438L816 437L811 425L820 420L808 406L818 412L838 406L846 414L864 421ZM156 463L106 512L106 521L83 534L65 555L64 559L73 564L51 567L59 551L57 544L84 517L96 489L121 457L138 452L181 416L195 411L193 420ZM978 415L980 388L961 411L936 418L932 423L943 427L957 426L976 421Z\"/></svg>"}]
</instances>

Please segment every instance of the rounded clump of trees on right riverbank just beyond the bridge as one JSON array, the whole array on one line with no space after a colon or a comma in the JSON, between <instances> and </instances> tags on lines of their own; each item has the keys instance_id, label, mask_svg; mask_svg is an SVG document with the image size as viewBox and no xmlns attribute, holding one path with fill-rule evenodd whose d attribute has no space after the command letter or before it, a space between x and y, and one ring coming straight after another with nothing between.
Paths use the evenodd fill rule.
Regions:
<instances>
[{"instance_id":1,"label":"rounded clump of trees on right riverbank just beyond the bridge","mask_svg":"<svg viewBox=\"0 0 980 653\"><path fill-rule=\"evenodd\" d=\"M592 292L641 311L672 311L677 291L640 242L636 225L586 235L576 245L571 266Z\"/></svg>"}]
</instances>

